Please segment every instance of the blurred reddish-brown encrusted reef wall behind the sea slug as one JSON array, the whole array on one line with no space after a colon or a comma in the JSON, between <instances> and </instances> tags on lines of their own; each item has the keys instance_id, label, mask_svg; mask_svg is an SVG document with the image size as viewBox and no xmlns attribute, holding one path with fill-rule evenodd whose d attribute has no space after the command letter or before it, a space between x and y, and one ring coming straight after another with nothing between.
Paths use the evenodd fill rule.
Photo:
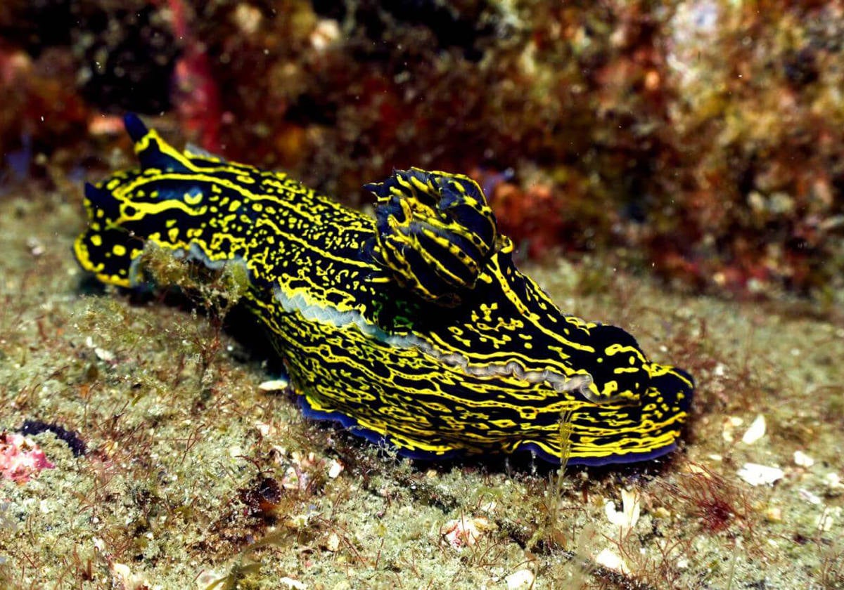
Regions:
<instances>
[{"instance_id":1,"label":"blurred reddish-brown encrusted reef wall behind the sea slug","mask_svg":"<svg viewBox=\"0 0 844 590\"><path fill-rule=\"evenodd\" d=\"M523 257L830 306L842 88L841 2L4 0L0 190L126 165L133 110L356 207L472 174Z\"/></svg>"}]
</instances>

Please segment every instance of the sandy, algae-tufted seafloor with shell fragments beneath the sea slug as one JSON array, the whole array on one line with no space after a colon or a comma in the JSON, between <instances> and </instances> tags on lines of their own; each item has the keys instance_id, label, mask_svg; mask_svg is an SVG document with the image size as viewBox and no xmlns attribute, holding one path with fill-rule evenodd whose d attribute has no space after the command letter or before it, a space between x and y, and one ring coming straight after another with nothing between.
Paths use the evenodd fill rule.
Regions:
<instances>
[{"instance_id":1,"label":"sandy, algae-tufted seafloor with shell fragments beneath the sea slug","mask_svg":"<svg viewBox=\"0 0 844 590\"><path fill-rule=\"evenodd\" d=\"M98 292L72 201L0 202L0 447L43 453L0 482L4 587L841 587L844 328L805 304L529 265L695 375L683 447L561 479L414 463L262 388L272 353L238 325Z\"/></svg>"}]
</instances>

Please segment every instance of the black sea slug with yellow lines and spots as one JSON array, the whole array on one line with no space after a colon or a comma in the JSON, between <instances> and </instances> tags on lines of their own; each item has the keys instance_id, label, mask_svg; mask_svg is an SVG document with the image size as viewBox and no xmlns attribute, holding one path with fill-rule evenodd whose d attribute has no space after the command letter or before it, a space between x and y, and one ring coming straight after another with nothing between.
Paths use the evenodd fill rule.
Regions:
<instances>
[{"instance_id":1,"label":"black sea slug with yellow lines and spots","mask_svg":"<svg viewBox=\"0 0 844 590\"><path fill-rule=\"evenodd\" d=\"M121 287L143 282L147 244L241 265L306 416L419 459L599 465L676 448L690 375L625 330L560 312L517 270L468 176L397 170L365 187L373 219L287 174L179 152L135 115L125 124L140 168L85 186L79 264Z\"/></svg>"}]
</instances>

